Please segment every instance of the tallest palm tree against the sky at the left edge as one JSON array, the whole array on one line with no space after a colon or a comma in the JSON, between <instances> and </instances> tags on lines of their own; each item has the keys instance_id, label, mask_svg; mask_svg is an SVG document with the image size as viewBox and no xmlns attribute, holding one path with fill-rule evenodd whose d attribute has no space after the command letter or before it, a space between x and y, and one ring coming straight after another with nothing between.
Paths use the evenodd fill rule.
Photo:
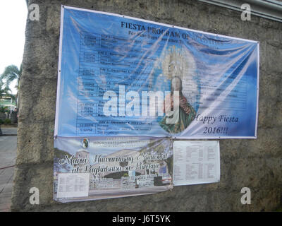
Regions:
<instances>
[{"instance_id":1,"label":"tallest palm tree against the sky at the left edge","mask_svg":"<svg viewBox=\"0 0 282 226\"><path fill-rule=\"evenodd\" d=\"M0 80L1 81L3 81L3 80L6 81L6 83L5 83L6 87L8 87L12 81L16 80L17 81L17 85L15 86L15 88L17 88L17 90L19 90L20 89L20 78L22 76L22 73L23 73L23 66L22 66L22 64L20 64L20 69L18 69L18 67L16 65L12 64L12 65L6 67L4 73L2 73L1 76L0 76ZM18 92L16 94L16 105L18 107L17 99L18 99Z\"/></svg>"}]
</instances>

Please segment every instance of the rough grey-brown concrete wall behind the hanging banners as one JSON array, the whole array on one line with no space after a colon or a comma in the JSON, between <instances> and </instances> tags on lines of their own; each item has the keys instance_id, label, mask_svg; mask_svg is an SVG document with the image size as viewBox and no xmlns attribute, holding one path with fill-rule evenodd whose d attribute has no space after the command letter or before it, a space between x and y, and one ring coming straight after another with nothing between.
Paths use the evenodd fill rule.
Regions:
<instances>
[{"instance_id":1,"label":"rough grey-brown concrete wall behind the hanging banners","mask_svg":"<svg viewBox=\"0 0 282 226\"><path fill-rule=\"evenodd\" d=\"M18 157L12 210L86 211L261 211L282 201L282 23L199 1L30 0L39 4L39 21L27 20L20 88ZM258 138L221 140L221 182L177 186L159 194L103 201L53 201L54 120L61 4L120 13L260 42ZM39 188L40 204L29 202ZM252 203L240 203L249 187Z\"/></svg>"}]
</instances>

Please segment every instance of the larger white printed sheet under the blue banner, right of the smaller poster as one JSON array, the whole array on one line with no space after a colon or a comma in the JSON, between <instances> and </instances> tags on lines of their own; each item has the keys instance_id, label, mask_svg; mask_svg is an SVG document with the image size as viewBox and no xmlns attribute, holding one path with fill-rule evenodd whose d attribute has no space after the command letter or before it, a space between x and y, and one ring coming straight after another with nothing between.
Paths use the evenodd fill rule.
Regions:
<instances>
[{"instance_id":1,"label":"larger white printed sheet under the blue banner, right of the smaller poster","mask_svg":"<svg viewBox=\"0 0 282 226\"><path fill-rule=\"evenodd\" d=\"M174 141L173 185L219 182L219 141Z\"/></svg>"}]
</instances>

